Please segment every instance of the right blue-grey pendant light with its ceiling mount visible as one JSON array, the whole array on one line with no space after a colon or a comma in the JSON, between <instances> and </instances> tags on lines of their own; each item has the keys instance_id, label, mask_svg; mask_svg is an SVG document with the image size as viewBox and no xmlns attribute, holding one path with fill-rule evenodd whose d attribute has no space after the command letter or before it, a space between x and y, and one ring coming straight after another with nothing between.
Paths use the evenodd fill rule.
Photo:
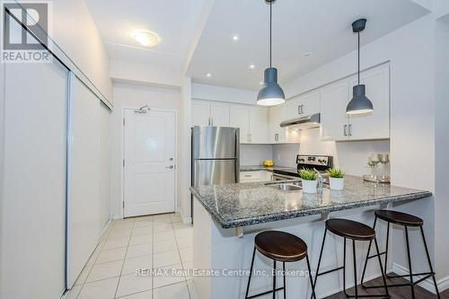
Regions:
<instances>
[{"instance_id":1,"label":"right blue-grey pendant light with its ceiling mount visible","mask_svg":"<svg viewBox=\"0 0 449 299\"><path fill-rule=\"evenodd\" d=\"M366 19L360 19L352 23L352 31L358 36L357 51L357 85L352 87L352 99L346 108L346 114L364 114L373 112L373 103L366 97L365 84L360 84L360 32L365 30Z\"/></svg>"}]
</instances>

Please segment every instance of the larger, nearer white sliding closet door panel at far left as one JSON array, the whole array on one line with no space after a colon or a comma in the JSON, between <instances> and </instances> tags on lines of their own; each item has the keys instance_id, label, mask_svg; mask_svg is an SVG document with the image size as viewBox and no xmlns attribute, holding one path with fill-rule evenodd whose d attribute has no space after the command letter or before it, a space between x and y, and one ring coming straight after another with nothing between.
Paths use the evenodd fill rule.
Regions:
<instances>
[{"instance_id":1,"label":"larger, nearer white sliding closet door panel at far left","mask_svg":"<svg viewBox=\"0 0 449 299\"><path fill-rule=\"evenodd\" d=\"M66 289L68 74L56 59L4 68L0 298L59 298Z\"/></svg>"}]
</instances>

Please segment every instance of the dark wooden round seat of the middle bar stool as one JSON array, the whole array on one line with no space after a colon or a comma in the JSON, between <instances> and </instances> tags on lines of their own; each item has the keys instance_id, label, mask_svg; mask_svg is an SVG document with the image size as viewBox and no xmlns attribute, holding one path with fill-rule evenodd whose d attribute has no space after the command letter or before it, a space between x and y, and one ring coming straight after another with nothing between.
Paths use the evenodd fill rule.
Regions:
<instances>
[{"instance_id":1,"label":"dark wooden round seat of the middle bar stool","mask_svg":"<svg viewBox=\"0 0 449 299\"><path fill-rule=\"evenodd\" d=\"M326 227L330 232L352 240L369 241L375 237L373 228L348 219L329 219L326 221Z\"/></svg>"}]
</instances>

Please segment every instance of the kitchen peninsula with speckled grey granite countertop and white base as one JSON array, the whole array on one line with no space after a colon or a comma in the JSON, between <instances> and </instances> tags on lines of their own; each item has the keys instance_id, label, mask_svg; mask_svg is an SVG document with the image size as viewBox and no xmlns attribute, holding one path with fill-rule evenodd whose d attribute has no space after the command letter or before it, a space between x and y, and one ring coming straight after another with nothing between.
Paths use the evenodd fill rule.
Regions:
<instances>
[{"instance_id":1,"label":"kitchen peninsula with speckled grey granite countertop and white base","mask_svg":"<svg viewBox=\"0 0 449 299\"><path fill-rule=\"evenodd\" d=\"M322 189L317 194L305 194L301 189L283 190L279 182L234 183L190 188L194 197L193 228L194 261L198 269L248 269L251 263L253 239L263 230L279 230L300 236L308 245L312 268L316 268L324 222L327 217L344 217L371 225L375 208L429 198L428 191L364 182L359 177L346 176L342 191ZM295 183L295 181L287 181ZM300 185L300 181L296 181ZM295 185L294 185L295 186ZM428 199L427 199L428 200ZM381 248L385 230L378 226ZM323 269L342 265L342 238L330 236L324 250ZM357 264L363 265L366 244L357 244ZM329 258L329 259L327 259ZM380 275L375 263L370 263L367 277ZM256 269L269 270L269 259L258 256ZM391 266L389 266L391 267ZM387 268L389 268L387 267ZM303 262L286 265L287 270L304 269ZM310 296L307 277L287 277L287 296ZM281 282L278 277L279 283ZM331 274L325 284L317 285L322 297L341 290L341 273ZM199 298L242 298L248 277L194 277ZM252 284L252 280L251 280ZM264 291L271 287L271 277L256 277L251 289Z\"/></svg>"}]
</instances>

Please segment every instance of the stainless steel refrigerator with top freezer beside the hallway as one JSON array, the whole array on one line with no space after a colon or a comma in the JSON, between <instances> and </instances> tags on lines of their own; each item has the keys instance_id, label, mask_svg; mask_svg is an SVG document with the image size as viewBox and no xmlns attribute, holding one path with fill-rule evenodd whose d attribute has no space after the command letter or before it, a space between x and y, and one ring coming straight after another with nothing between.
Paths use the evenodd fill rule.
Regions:
<instances>
[{"instance_id":1,"label":"stainless steel refrigerator with top freezer beside the hallway","mask_svg":"<svg viewBox=\"0 0 449 299\"><path fill-rule=\"evenodd\" d=\"M239 181L239 128L192 128L192 186Z\"/></svg>"}]
</instances>

